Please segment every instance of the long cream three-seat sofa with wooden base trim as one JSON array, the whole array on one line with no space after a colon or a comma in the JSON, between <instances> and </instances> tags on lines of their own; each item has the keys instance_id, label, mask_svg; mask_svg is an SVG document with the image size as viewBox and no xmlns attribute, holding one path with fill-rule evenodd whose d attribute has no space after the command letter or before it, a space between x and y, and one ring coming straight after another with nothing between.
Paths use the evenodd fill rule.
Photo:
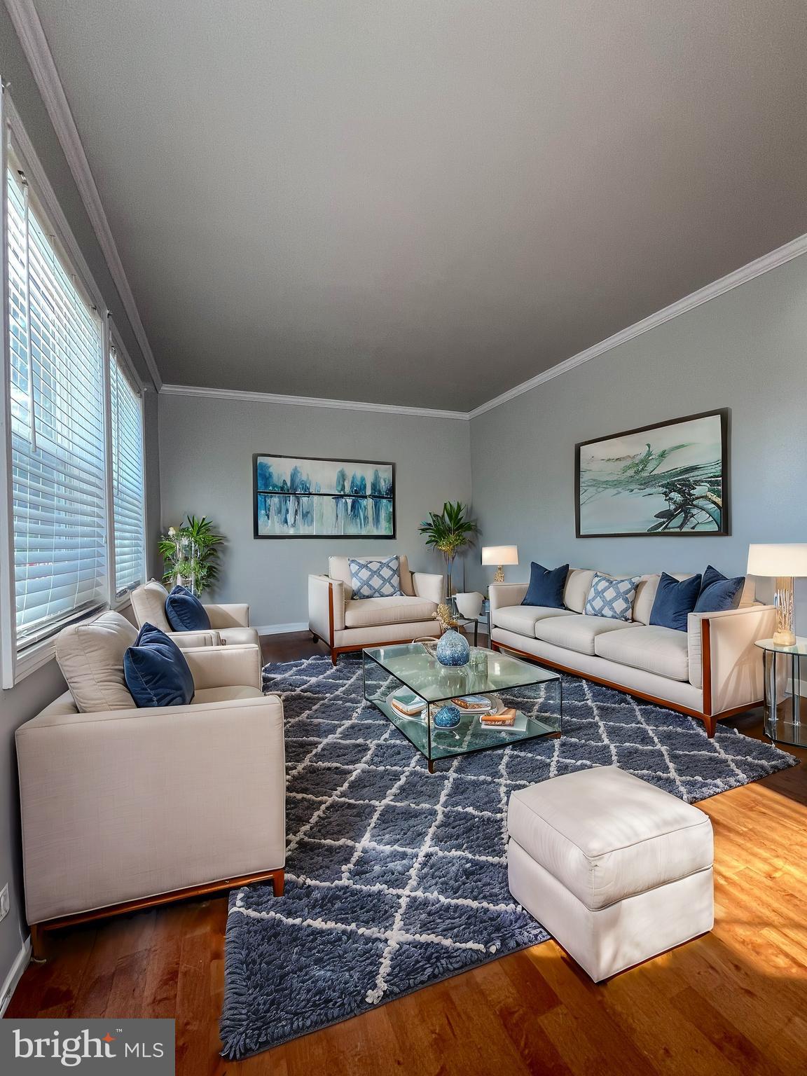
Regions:
<instances>
[{"instance_id":1,"label":"long cream three-seat sofa with wooden base trim","mask_svg":"<svg viewBox=\"0 0 807 1076\"><path fill-rule=\"evenodd\" d=\"M776 611L754 601L750 581L738 608L691 613L688 631L676 632L648 623L660 576L641 577L631 622L583 614L593 578L594 571L569 571L566 609L523 606L526 583L493 583L492 648L688 713L709 736L720 718L762 705L762 652L754 642L773 634Z\"/></svg>"}]
</instances>

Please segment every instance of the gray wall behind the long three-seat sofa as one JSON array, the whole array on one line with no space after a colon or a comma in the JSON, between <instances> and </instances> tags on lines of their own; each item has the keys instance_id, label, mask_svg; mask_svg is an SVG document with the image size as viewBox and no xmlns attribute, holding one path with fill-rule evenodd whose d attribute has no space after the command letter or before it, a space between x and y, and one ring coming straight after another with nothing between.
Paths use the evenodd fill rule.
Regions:
<instances>
[{"instance_id":1,"label":"gray wall behind the long three-seat sofa","mask_svg":"<svg viewBox=\"0 0 807 1076\"><path fill-rule=\"evenodd\" d=\"M807 257L796 258L471 422L485 544L548 566L745 572L748 543L807 541ZM575 443L731 409L726 538L575 538ZM481 567L477 582L490 582ZM801 589L801 587L799 587ZM807 629L807 594L802 597Z\"/></svg>"}]
</instances>

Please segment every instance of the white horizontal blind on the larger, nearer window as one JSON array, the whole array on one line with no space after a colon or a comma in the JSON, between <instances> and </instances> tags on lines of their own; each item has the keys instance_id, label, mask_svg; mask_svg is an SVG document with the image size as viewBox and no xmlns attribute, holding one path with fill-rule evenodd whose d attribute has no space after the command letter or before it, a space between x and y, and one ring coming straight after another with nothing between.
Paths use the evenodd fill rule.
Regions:
<instances>
[{"instance_id":1,"label":"white horizontal blind on the larger, nearer window","mask_svg":"<svg viewBox=\"0 0 807 1076\"><path fill-rule=\"evenodd\" d=\"M10 153L6 175L17 650L105 603L100 321Z\"/></svg>"}]
</instances>

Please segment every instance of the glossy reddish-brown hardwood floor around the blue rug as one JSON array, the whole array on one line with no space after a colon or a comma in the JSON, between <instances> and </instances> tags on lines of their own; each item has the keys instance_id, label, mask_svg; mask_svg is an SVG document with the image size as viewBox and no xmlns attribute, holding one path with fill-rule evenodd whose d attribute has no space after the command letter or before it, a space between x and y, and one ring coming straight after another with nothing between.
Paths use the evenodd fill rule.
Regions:
<instances>
[{"instance_id":1,"label":"glossy reddish-brown hardwood floor around the blue rug","mask_svg":"<svg viewBox=\"0 0 807 1076\"><path fill-rule=\"evenodd\" d=\"M267 660L323 652L265 640ZM733 722L762 738L761 716ZM807 751L795 751L803 761ZM55 933L9 1016L176 1019L181 1076L807 1072L807 769L705 801L711 934L595 986L547 942L240 1063L218 1057L225 898Z\"/></svg>"}]
</instances>

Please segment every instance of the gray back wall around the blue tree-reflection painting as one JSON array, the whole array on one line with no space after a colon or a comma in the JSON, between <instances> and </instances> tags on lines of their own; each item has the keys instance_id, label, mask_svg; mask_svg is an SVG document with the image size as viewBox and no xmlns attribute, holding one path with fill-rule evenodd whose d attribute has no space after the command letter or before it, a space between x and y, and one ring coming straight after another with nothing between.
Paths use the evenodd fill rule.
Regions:
<instances>
[{"instance_id":1,"label":"gray back wall around the blue tree-reflection painting","mask_svg":"<svg viewBox=\"0 0 807 1076\"><path fill-rule=\"evenodd\" d=\"M258 626L308 621L308 575L331 553L406 553L441 569L417 525L445 500L470 500L469 423L199 396L159 397L162 523L211 516L227 537L215 596L249 601ZM252 455L383 459L396 465L397 538L253 538ZM459 575L457 574L457 578Z\"/></svg>"}]
</instances>

